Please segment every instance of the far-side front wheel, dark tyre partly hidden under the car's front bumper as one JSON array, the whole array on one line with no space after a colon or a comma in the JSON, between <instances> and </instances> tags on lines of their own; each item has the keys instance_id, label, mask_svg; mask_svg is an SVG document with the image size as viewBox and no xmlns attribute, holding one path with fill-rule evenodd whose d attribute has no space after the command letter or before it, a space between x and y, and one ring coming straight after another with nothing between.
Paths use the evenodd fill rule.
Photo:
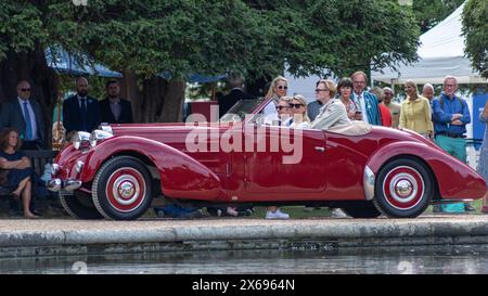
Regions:
<instances>
[{"instance_id":1,"label":"far-side front wheel, dark tyre partly hidden under the car's front bumper","mask_svg":"<svg viewBox=\"0 0 488 296\"><path fill-rule=\"evenodd\" d=\"M74 194L60 193L60 202L66 213L78 219L97 220L103 219L93 204L91 195L76 191Z\"/></svg>"}]
</instances>

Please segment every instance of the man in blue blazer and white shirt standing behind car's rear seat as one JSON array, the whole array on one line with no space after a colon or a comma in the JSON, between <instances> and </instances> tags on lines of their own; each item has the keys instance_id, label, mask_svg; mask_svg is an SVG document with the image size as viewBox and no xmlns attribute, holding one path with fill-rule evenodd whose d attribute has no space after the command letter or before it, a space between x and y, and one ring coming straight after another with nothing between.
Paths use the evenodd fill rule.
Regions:
<instances>
[{"instance_id":1,"label":"man in blue blazer and white shirt standing behind car's rear seat","mask_svg":"<svg viewBox=\"0 0 488 296\"><path fill-rule=\"evenodd\" d=\"M352 86L355 91L352 92L352 101L359 106L363 121L373 125L381 126L382 117L378 107L378 101L376 95L365 91L367 75L365 73L358 70L350 77L352 79Z\"/></svg>"}]
</instances>

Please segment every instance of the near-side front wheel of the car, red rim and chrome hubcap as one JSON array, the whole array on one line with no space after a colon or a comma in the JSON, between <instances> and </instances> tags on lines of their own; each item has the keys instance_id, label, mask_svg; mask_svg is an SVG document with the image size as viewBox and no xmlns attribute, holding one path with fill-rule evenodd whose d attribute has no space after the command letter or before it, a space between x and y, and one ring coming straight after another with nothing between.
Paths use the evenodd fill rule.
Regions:
<instances>
[{"instance_id":1,"label":"near-side front wheel of the car, red rim and chrome hubcap","mask_svg":"<svg viewBox=\"0 0 488 296\"><path fill-rule=\"evenodd\" d=\"M93 203L106 218L134 220L152 202L151 173L139 159L117 156L99 169L92 184Z\"/></svg>"}]
</instances>

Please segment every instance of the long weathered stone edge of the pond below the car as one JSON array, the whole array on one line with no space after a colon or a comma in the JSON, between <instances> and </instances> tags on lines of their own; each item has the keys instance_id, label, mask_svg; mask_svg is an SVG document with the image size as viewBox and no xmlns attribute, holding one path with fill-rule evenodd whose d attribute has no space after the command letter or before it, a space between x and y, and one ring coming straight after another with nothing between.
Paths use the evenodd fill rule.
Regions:
<instances>
[{"instance_id":1,"label":"long weathered stone edge of the pond below the car","mask_svg":"<svg viewBox=\"0 0 488 296\"><path fill-rule=\"evenodd\" d=\"M181 250L317 249L488 245L488 219L181 224L0 231L0 257Z\"/></svg>"}]
</instances>

